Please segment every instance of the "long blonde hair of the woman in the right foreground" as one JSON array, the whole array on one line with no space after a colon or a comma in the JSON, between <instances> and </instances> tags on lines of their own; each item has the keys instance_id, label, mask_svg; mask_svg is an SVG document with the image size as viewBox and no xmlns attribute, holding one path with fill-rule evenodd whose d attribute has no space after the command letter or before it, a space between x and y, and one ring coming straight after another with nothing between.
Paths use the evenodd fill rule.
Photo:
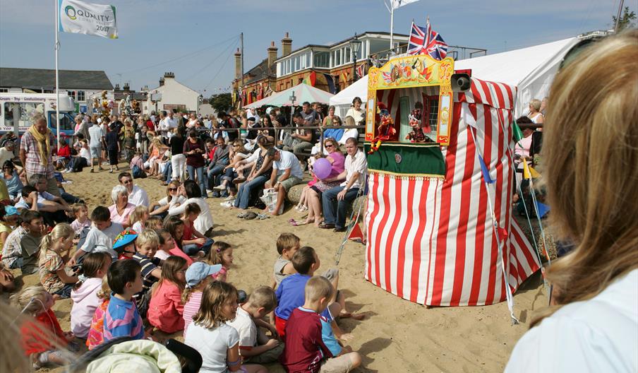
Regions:
<instances>
[{"instance_id":1,"label":"long blonde hair of the woman in the right foreground","mask_svg":"<svg viewBox=\"0 0 638 373\"><path fill-rule=\"evenodd\" d=\"M632 30L589 47L552 85L542 174L550 226L575 244L546 271L558 307L588 300L638 268L636 61L638 31Z\"/></svg>"}]
</instances>

